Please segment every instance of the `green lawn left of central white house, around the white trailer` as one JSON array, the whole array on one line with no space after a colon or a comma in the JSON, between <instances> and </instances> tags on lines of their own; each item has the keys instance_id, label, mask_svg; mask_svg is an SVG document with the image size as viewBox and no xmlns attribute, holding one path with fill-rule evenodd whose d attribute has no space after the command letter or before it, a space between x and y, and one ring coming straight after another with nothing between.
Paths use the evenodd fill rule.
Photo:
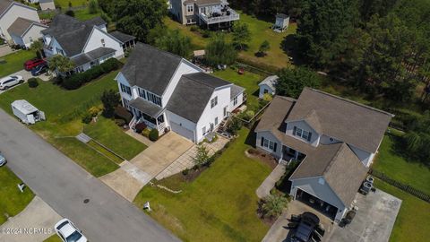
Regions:
<instances>
[{"instance_id":1,"label":"green lawn left of central white house, around the white trailer","mask_svg":"<svg viewBox=\"0 0 430 242\"><path fill-rule=\"evenodd\" d=\"M74 136L82 131L83 113L92 106L100 105L99 97L102 92L117 89L114 82L116 73L109 73L75 91L65 91L51 82L39 81L39 87L36 89L30 89L24 84L1 94L0 108L12 115L10 104L13 100L30 101L47 116L47 121L30 125L30 129L63 151L92 175L100 177L114 171L118 166L86 144L78 142Z\"/></svg>"}]
</instances>

